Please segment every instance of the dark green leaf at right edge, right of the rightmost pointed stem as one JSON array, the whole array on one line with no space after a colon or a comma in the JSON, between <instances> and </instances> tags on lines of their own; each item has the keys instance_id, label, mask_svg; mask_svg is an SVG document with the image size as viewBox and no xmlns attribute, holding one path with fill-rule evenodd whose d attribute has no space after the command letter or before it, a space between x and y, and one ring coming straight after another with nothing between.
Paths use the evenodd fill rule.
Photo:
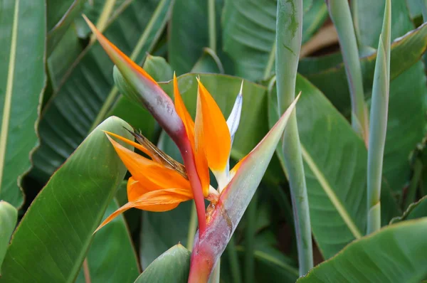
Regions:
<instances>
[{"instance_id":1,"label":"dark green leaf at right edge, right of the rightmost pointed stem","mask_svg":"<svg viewBox=\"0 0 427 283\"><path fill-rule=\"evenodd\" d=\"M424 137L426 84L421 62L413 65L390 83L383 175L396 192L401 192L408 181L411 173L409 156Z\"/></svg>"}]
</instances>

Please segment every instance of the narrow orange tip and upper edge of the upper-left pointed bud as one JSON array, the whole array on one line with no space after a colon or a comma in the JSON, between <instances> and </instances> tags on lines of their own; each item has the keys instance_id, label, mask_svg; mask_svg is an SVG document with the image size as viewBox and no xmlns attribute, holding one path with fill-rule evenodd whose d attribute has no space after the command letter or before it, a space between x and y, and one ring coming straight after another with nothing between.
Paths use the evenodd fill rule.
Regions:
<instances>
[{"instance_id":1,"label":"narrow orange tip and upper edge of the upper-left pointed bud","mask_svg":"<svg viewBox=\"0 0 427 283\"><path fill-rule=\"evenodd\" d=\"M92 30L92 32L95 33L95 36L100 42L102 48L105 49L105 52L108 54L108 56L110 56L111 60L117 65L117 67L120 68L120 63L124 63L125 65L127 65L127 67L132 68L144 78L147 78L148 80L154 82L154 84L158 85L157 82L147 72L145 72L144 69L139 67L139 65L130 60L130 58L125 55L125 53L122 53L119 48L117 48L114 44L108 41L108 39L105 38L105 36L103 36L102 33L97 30L95 25L91 21L89 21L89 19L85 15L83 15L83 18L85 18L86 23L88 23L88 26Z\"/></svg>"}]
</instances>

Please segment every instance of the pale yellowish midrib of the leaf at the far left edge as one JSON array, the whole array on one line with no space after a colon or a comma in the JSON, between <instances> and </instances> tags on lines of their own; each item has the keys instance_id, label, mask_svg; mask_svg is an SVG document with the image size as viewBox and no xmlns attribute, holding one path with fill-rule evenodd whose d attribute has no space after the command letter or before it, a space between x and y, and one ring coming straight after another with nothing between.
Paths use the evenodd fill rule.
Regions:
<instances>
[{"instance_id":1,"label":"pale yellowish midrib of the leaf at the far left edge","mask_svg":"<svg viewBox=\"0 0 427 283\"><path fill-rule=\"evenodd\" d=\"M16 63L16 38L18 36L18 11L19 0L15 2L14 22L12 23L11 52L9 55L8 75L6 81L6 93L4 97L3 116L1 117L0 132L0 193L3 183L4 160L6 159L6 143L8 138L9 121L11 117L12 90L14 86L14 73Z\"/></svg>"}]
</instances>

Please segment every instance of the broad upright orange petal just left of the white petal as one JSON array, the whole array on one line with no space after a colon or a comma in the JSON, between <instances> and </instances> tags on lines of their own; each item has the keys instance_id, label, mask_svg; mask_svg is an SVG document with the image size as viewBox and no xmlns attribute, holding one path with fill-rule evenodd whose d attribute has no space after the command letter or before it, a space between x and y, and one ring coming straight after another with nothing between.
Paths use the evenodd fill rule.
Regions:
<instances>
[{"instance_id":1,"label":"broad upright orange petal just left of the white petal","mask_svg":"<svg viewBox=\"0 0 427 283\"><path fill-rule=\"evenodd\" d=\"M214 98L199 82L197 98L200 101L197 112L201 111L204 133L204 146L209 168L212 171L226 170L228 156L231 150L231 137L226 119L216 104ZM199 113L198 113L199 114Z\"/></svg>"}]
</instances>

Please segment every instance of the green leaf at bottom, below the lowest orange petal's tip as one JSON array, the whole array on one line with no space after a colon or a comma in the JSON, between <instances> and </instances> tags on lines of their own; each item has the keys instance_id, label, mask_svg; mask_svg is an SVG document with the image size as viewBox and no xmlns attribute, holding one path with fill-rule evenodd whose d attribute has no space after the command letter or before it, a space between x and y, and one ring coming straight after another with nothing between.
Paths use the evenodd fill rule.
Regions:
<instances>
[{"instance_id":1,"label":"green leaf at bottom, below the lowest orange petal's tip","mask_svg":"<svg viewBox=\"0 0 427 283\"><path fill-rule=\"evenodd\" d=\"M119 208L116 201L108 205L102 220ZM99 230L90 244L87 263L78 274L76 283L134 282L139 275L139 265L123 215L114 218Z\"/></svg>"}]
</instances>

